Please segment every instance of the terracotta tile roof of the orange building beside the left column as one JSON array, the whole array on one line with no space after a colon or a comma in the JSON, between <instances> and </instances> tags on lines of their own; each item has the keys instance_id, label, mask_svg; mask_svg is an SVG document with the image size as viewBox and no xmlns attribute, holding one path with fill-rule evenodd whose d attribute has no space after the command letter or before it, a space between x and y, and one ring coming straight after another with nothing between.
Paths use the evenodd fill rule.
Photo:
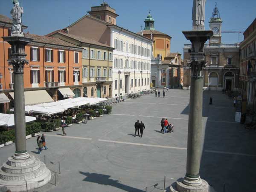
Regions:
<instances>
[{"instance_id":1,"label":"terracotta tile roof of the orange building beside the left column","mask_svg":"<svg viewBox=\"0 0 256 192\"><path fill-rule=\"evenodd\" d=\"M34 39L33 42L38 42L38 43L47 43L47 44L58 45L58 46L81 48L72 43L68 43L64 40L61 40L55 37L46 37L46 36L41 36L37 34L25 34L25 37L33 38Z\"/></svg>"}]
</instances>

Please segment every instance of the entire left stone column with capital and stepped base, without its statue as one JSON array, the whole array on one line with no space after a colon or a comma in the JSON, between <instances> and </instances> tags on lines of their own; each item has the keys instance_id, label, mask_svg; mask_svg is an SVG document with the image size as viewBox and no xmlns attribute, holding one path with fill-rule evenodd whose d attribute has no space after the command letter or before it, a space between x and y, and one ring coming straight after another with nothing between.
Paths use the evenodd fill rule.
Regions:
<instances>
[{"instance_id":1,"label":"entire left stone column with capital and stepped base, without its statue","mask_svg":"<svg viewBox=\"0 0 256 192\"><path fill-rule=\"evenodd\" d=\"M15 110L15 155L9 157L0 168L0 188L6 186L12 192L22 192L41 187L51 179L51 172L43 162L29 155L26 150L26 124L23 69L28 63L25 46L31 38L23 35L3 37L12 45L9 65L14 72L14 110Z\"/></svg>"}]
</instances>

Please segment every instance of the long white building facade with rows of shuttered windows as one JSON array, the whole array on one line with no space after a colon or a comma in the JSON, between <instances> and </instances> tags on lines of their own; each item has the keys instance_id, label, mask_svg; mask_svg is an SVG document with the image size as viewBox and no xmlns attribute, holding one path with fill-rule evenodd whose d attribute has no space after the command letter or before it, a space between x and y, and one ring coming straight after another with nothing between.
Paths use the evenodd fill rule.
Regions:
<instances>
[{"instance_id":1,"label":"long white building facade with rows of shuttered windows","mask_svg":"<svg viewBox=\"0 0 256 192\"><path fill-rule=\"evenodd\" d=\"M113 97L150 89L153 41L116 25L109 26L113 51Z\"/></svg>"}]
</instances>

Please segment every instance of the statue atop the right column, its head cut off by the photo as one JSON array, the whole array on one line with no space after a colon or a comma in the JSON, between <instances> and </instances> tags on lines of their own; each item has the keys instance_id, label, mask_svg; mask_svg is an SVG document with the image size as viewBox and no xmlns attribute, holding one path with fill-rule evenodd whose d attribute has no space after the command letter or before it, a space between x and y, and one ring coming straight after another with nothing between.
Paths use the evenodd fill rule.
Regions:
<instances>
[{"instance_id":1,"label":"statue atop the right column, its head cut off by the photo","mask_svg":"<svg viewBox=\"0 0 256 192\"><path fill-rule=\"evenodd\" d=\"M204 26L206 0L193 0L193 26Z\"/></svg>"}]
</instances>

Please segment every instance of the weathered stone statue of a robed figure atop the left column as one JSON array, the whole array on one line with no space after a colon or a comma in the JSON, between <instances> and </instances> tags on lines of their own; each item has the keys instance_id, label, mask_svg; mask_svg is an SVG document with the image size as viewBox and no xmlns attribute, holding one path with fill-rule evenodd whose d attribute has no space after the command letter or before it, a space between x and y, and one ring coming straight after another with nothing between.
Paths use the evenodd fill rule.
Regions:
<instances>
[{"instance_id":1,"label":"weathered stone statue of a robed figure atop the left column","mask_svg":"<svg viewBox=\"0 0 256 192\"><path fill-rule=\"evenodd\" d=\"M23 14L23 8L20 7L18 0L13 0L14 7L11 10L12 16L12 36L23 36L21 30L21 15Z\"/></svg>"}]
</instances>

